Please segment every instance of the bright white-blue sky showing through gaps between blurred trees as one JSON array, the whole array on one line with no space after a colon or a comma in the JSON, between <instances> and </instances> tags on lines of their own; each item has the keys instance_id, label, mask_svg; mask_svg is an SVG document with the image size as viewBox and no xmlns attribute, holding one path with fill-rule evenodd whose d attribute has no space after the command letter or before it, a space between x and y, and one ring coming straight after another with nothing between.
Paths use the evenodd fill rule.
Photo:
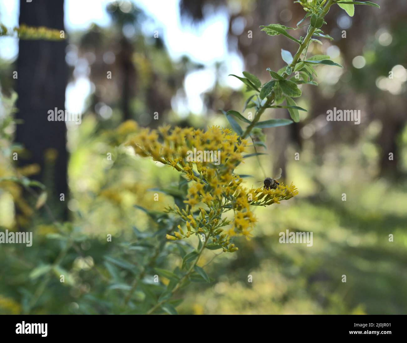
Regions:
<instances>
[{"instance_id":1,"label":"bright white-blue sky showing through gaps between blurred trees","mask_svg":"<svg viewBox=\"0 0 407 343\"><path fill-rule=\"evenodd\" d=\"M87 29L93 22L101 26L109 25L109 15L105 10L109 2L109 0L65 0L65 26L68 33L72 29ZM153 35L154 31L158 30L159 34L163 35L171 57L178 59L182 55L188 55L193 61L206 66L203 70L187 75L185 80L187 103L173 102L175 110L180 114L188 114L189 111L201 112L203 109L201 93L214 84L215 62L228 60L227 74L239 74L243 70L241 58L227 50L227 13L219 10L206 22L190 26L181 24L179 0L137 0L136 4L152 19L143 25L145 35ZM0 2L0 22L9 28L18 26L18 11L18 0ZM18 40L2 37L0 57L13 60L17 54ZM233 77L227 78L227 84L234 88L241 86ZM89 91L90 85L86 79L79 79L68 85L67 109L72 111L83 109Z\"/></svg>"}]
</instances>

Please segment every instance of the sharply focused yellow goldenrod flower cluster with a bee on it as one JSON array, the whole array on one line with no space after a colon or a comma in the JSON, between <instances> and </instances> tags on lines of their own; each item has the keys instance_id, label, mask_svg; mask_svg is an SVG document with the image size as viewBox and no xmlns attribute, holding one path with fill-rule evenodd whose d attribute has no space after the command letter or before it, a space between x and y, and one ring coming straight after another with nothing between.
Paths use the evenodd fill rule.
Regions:
<instances>
[{"instance_id":1,"label":"sharply focused yellow goldenrod flower cluster with a bee on it","mask_svg":"<svg viewBox=\"0 0 407 343\"><path fill-rule=\"evenodd\" d=\"M212 126L206 132L178 127L170 130L168 126L158 130L141 129L131 137L127 145L133 147L136 154L152 157L194 181L184 200L186 209L177 206L167 209L179 215L186 225L185 231L178 226L179 232L167 235L169 240L203 234L224 251L236 251L238 248L230 244L230 237L243 235L249 238L256 222L250 206L279 203L298 194L293 185L280 184L277 189L243 187L243 179L234 174L234 169L243 162L242 153L246 151L247 144L247 140L240 139L230 129L218 126ZM199 207L196 211L195 205L199 204L206 204L208 209ZM231 210L234 211L232 228L223 231L221 227L230 224L230 221L222 219L221 215ZM198 216L194 217L197 213Z\"/></svg>"}]
</instances>

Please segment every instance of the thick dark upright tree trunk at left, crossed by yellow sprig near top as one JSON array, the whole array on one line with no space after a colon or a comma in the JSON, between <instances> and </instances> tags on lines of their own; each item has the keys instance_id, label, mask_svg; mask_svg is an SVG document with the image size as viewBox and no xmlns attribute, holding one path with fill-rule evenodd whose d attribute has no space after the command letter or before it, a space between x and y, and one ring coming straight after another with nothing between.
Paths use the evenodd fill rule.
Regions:
<instances>
[{"instance_id":1,"label":"thick dark upright tree trunk at left, crossed by yellow sprig near top","mask_svg":"<svg viewBox=\"0 0 407 343\"><path fill-rule=\"evenodd\" d=\"M63 0L20 0L19 22L64 30ZM41 172L33 178L47 185L49 203L55 204L53 209L59 219L67 216L66 124L48 121L48 111L65 110L68 80L65 48L65 40L20 40L17 60L16 118L24 122L17 125L15 141L25 148L18 156L18 164L40 166ZM65 201L59 201L61 193L65 195Z\"/></svg>"}]
</instances>

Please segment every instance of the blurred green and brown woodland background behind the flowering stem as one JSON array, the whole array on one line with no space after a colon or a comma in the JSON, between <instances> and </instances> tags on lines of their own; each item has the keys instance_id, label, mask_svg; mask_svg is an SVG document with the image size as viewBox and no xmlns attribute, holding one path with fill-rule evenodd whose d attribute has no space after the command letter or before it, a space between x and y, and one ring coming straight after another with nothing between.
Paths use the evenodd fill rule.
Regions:
<instances>
[{"instance_id":1,"label":"blurred green and brown woodland background behind the flowering stem","mask_svg":"<svg viewBox=\"0 0 407 343\"><path fill-rule=\"evenodd\" d=\"M261 165L267 176L282 167L283 180L293 181L299 196L276 208L256 209L254 237L235 242L237 253L215 256L217 251L207 251L199 264L216 257L206 267L213 281L180 290L176 299L184 302L179 313L407 313L407 4L376 2L380 11L357 7L353 18L339 7L331 9L327 32L334 40L310 48L314 54L330 55L344 69L320 67L319 86L302 88L298 106L308 112L301 112L300 123L265 131L268 154L260 156ZM293 27L303 16L300 6L286 0L179 0L174 5L181 22L197 30L216 13L224 13L228 48L240 56L243 70L262 82L269 79L266 68L283 66L280 49L292 51L292 46L278 36L260 33L258 26ZM126 121L152 128L227 126L219 108L239 110L247 97L243 88L226 83L228 60L202 64L188 55L172 58L162 39L165 22L152 26L158 38L153 30L143 30L147 23L151 27L143 4L112 2L103 11L111 18L108 26L95 23L67 33L68 88L83 78L91 84L81 125L67 129L69 221L55 227L44 207L34 209L37 200L32 195L14 182L0 183L1 228L24 228L34 236L30 248L0 245L0 313L131 311L131 306L123 308L127 286L106 284L106 279L131 280L132 267L117 259L123 254L136 269L142 265L143 247L134 248L135 237L151 234L148 239L155 242L165 236L171 223L155 215L172 204L173 197L160 193L157 202L155 191L149 189L177 187L179 176L171 168L133 156L121 145L127 129L131 131L131 122ZM252 39L247 38L249 30ZM11 155L20 148L18 141L13 143L15 128L24 125L12 119L15 68L15 58L0 60L0 178L35 178L38 166L15 166ZM112 79L106 78L107 70ZM390 71L393 79L388 77ZM180 114L179 103L188 104L186 79L200 72L212 73L215 79L201 94L202 110ZM327 122L326 111L333 107L361 109L361 124ZM155 112L159 120L153 119ZM289 118L283 109L270 110L267 116ZM294 159L296 152L299 161ZM112 161L106 159L107 153ZM45 161L46 170L52 156ZM239 166L239 172L252 176L245 179L248 187L264 178L255 158ZM52 174L43 173L39 180L52 184ZM135 205L153 212L149 215ZM278 234L286 229L312 231L313 246L280 244ZM75 237L74 242L59 237L60 231ZM107 234L116 243L106 242ZM389 242L389 234L394 242ZM195 237L190 240L195 245ZM162 248L158 265L179 264L173 248L174 244ZM62 262L53 264L61 252ZM47 264L53 264L53 273L42 286L44 275L33 275L33 270L41 276L38 266ZM61 273L69 275L63 285ZM149 274L146 284L151 284ZM252 283L247 282L248 275L253 276ZM346 283L341 282L342 275ZM139 289L135 302L148 307L146 292Z\"/></svg>"}]
</instances>

